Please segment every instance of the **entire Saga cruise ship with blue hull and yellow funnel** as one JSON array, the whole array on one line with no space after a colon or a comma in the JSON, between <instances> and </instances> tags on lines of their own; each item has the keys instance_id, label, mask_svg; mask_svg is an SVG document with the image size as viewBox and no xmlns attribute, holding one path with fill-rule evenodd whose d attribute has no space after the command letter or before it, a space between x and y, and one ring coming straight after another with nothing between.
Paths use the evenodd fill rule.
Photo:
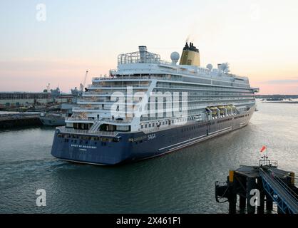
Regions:
<instances>
[{"instance_id":1,"label":"entire Saga cruise ship with blue hull and yellow funnel","mask_svg":"<svg viewBox=\"0 0 298 228\"><path fill-rule=\"evenodd\" d=\"M247 77L227 63L200 66L200 51L186 43L171 61L146 46L118 56L109 76L92 79L56 128L51 154L58 159L116 165L164 155L245 127L255 112Z\"/></svg>"}]
</instances>

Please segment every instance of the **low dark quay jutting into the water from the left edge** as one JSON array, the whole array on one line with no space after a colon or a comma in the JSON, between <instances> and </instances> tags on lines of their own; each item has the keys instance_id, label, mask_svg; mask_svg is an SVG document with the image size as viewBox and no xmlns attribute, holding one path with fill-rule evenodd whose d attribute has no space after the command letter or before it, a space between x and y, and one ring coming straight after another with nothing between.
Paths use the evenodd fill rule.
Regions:
<instances>
[{"instance_id":1,"label":"low dark quay jutting into the water from the left edge","mask_svg":"<svg viewBox=\"0 0 298 228\"><path fill-rule=\"evenodd\" d=\"M33 125L41 125L39 114L18 113L0 115L0 129Z\"/></svg>"}]
</instances>

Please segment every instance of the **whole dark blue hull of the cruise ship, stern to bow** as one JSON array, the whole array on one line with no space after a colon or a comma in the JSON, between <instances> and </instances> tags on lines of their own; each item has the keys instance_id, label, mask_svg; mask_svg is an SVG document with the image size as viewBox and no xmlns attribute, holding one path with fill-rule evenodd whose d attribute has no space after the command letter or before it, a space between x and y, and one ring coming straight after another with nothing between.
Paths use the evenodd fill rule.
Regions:
<instances>
[{"instance_id":1,"label":"whole dark blue hull of the cruise ship, stern to bow","mask_svg":"<svg viewBox=\"0 0 298 228\"><path fill-rule=\"evenodd\" d=\"M118 133L116 137L61 133L56 130L51 154L59 159L96 165L143 160L244 127L255 108L246 114L175 126L154 133Z\"/></svg>"}]
</instances>

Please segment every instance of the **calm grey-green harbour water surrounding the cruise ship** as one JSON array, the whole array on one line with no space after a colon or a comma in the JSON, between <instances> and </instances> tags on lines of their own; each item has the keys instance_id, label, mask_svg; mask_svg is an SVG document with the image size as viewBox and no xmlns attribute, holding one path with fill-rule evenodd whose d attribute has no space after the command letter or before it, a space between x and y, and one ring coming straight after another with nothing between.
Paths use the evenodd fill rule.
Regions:
<instances>
[{"instance_id":1,"label":"calm grey-green harbour water surrounding the cruise ship","mask_svg":"<svg viewBox=\"0 0 298 228\"><path fill-rule=\"evenodd\" d=\"M260 148L298 175L298 104L257 102L241 130L142 162L101 167L52 157L55 128L0 132L0 213L227 213L214 183L258 165ZM46 190L46 207L36 190Z\"/></svg>"}]
</instances>

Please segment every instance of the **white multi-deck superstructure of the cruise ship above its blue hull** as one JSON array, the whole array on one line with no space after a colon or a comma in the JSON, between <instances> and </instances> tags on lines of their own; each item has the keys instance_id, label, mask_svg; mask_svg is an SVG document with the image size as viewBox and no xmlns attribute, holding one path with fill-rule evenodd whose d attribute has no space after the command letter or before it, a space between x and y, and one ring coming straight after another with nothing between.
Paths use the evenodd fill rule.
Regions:
<instances>
[{"instance_id":1,"label":"white multi-deck superstructure of the cruise ship above its blue hull","mask_svg":"<svg viewBox=\"0 0 298 228\"><path fill-rule=\"evenodd\" d=\"M190 44L190 52L197 51L198 55ZM183 55L187 57L188 45L185 48ZM110 76L93 78L73 108L73 116L66 120L67 127L91 132L148 131L157 126L173 128L180 122L220 119L255 105L256 89L250 87L248 78L230 74L227 63L202 68L189 59L185 60L188 65L180 65L179 58L175 52L171 54L172 62L161 61L145 46L134 53L120 54L118 68L111 70ZM174 93L181 97L175 100ZM178 105L181 110L185 105L182 94L187 94L187 115L169 116L168 107Z\"/></svg>"}]
</instances>

